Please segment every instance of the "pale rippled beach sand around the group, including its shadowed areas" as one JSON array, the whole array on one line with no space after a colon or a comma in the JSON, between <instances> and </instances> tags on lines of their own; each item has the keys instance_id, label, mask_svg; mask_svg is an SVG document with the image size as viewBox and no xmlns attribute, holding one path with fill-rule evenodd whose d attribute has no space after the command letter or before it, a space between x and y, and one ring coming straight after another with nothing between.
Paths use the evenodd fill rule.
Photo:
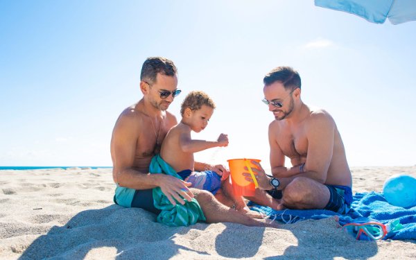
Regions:
<instances>
[{"instance_id":1,"label":"pale rippled beach sand around the group, including its shadowed areas","mask_svg":"<svg viewBox=\"0 0 416 260\"><path fill-rule=\"evenodd\" d=\"M381 191L413 167L352 168L353 191ZM416 241L356 241L335 218L279 229L167 227L114 205L111 169L0 171L0 259L416 259Z\"/></svg>"}]
</instances>

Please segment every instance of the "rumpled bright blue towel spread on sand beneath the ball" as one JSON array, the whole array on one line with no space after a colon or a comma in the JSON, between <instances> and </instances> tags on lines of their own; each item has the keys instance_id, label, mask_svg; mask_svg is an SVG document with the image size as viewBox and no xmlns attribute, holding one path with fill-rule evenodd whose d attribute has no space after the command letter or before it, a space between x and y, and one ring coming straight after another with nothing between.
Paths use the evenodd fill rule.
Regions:
<instances>
[{"instance_id":1,"label":"rumpled bright blue towel spread on sand beneath the ball","mask_svg":"<svg viewBox=\"0 0 416 260\"><path fill-rule=\"evenodd\" d=\"M252 209L276 218L284 223L295 223L305 219L322 219L338 216L340 225L352 223L356 218L371 218L383 224L399 220L403 228L392 230L384 239L416 239L416 206L405 209L390 205L383 193L356 193L352 200L351 210L341 215L325 209L284 209L274 210L270 207L254 205Z\"/></svg>"}]
</instances>

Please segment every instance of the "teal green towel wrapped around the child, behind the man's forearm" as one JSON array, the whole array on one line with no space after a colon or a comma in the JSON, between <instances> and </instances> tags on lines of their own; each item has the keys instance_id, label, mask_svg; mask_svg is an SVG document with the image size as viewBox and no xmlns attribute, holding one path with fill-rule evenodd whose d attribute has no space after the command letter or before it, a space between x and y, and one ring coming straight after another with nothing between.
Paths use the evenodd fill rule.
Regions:
<instances>
[{"instance_id":1,"label":"teal green towel wrapped around the child, behind the man's forearm","mask_svg":"<svg viewBox=\"0 0 416 260\"><path fill-rule=\"evenodd\" d=\"M155 155L152 158L149 166L150 173L164 173L167 175L172 175L182 180L180 175L177 175L175 170L169 166L160 155ZM196 201L195 198L192 198L191 201L185 200L185 204L182 205L179 202L174 206L168 200L168 198L162 192L160 187L153 189L153 204L157 209L162 210L157 216L157 222L163 223L168 226L189 226L198 222L198 220L205 221L206 218L202 213L202 209Z\"/></svg>"}]
</instances>

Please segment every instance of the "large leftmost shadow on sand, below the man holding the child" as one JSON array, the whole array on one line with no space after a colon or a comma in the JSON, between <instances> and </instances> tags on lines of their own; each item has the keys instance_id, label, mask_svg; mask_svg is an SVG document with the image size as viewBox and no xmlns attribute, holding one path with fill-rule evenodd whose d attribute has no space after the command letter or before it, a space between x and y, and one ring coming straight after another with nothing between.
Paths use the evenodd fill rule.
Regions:
<instances>
[{"instance_id":1,"label":"large leftmost shadow on sand, below the man holding the child","mask_svg":"<svg viewBox=\"0 0 416 260\"><path fill-rule=\"evenodd\" d=\"M175 236L187 234L191 227L162 229L160 225L155 223L155 215L144 209L111 205L81 211L64 226L53 226L48 234L38 237L19 259L84 259L91 250L105 247L112 248L112 254L116 251L115 259L170 259L180 249L195 251L173 241Z\"/></svg>"}]
</instances>

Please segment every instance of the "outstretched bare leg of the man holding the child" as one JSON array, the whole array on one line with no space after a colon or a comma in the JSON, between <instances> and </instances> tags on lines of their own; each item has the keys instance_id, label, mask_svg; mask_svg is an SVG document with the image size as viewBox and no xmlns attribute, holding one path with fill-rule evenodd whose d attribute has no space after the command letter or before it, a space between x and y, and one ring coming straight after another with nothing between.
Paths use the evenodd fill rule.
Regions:
<instances>
[{"instance_id":1,"label":"outstretched bare leg of the man holding the child","mask_svg":"<svg viewBox=\"0 0 416 260\"><path fill-rule=\"evenodd\" d=\"M250 218L245 214L231 209L216 200L209 191L191 189L204 212L207 223L230 222L247 226L277 227L276 223L268 224L267 220Z\"/></svg>"}]
</instances>

